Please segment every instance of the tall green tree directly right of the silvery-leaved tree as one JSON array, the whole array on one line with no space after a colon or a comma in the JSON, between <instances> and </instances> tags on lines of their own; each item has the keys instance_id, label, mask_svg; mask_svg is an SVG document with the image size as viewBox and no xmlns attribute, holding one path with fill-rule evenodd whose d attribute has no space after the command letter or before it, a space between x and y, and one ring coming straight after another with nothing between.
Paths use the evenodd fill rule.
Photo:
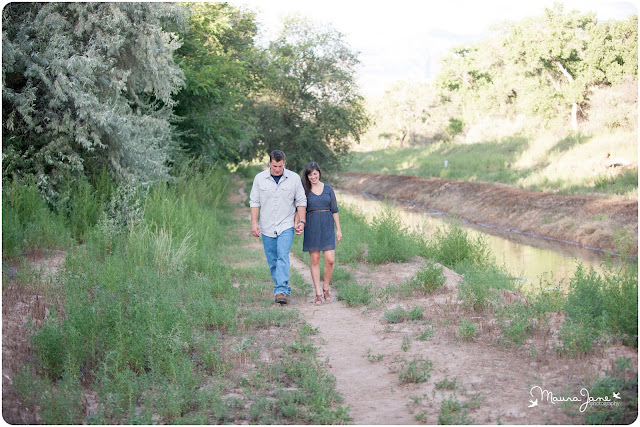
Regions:
<instances>
[{"instance_id":1,"label":"tall green tree directly right of the silvery-leaved tree","mask_svg":"<svg viewBox=\"0 0 640 427\"><path fill-rule=\"evenodd\" d=\"M253 12L227 3L191 3L189 30L176 51L186 86L175 97L182 146L206 161L238 161L254 136L244 108L257 83Z\"/></svg>"}]
</instances>

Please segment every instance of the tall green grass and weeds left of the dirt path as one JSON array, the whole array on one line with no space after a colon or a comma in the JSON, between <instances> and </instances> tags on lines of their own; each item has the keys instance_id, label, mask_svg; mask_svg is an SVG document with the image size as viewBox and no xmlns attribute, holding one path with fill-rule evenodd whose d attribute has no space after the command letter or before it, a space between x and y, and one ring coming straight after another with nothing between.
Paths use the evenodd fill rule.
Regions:
<instances>
[{"instance_id":1,"label":"tall green grass and weeds left of the dirt path","mask_svg":"<svg viewBox=\"0 0 640 427\"><path fill-rule=\"evenodd\" d=\"M239 243L234 230L249 228L224 205L229 182L224 170L191 168L174 184L122 193L126 218L103 216L85 245L69 250L62 303L30 336L34 359L16 379L43 422L349 419L299 313L273 304L266 263L222 262ZM302 285L292 275L292 286ZM234 374L247 363L257 366L250 381ZM88 417L87 389L97 401ZM228 390L243 390L240 401Z\"/></svg>"}]
</instances>

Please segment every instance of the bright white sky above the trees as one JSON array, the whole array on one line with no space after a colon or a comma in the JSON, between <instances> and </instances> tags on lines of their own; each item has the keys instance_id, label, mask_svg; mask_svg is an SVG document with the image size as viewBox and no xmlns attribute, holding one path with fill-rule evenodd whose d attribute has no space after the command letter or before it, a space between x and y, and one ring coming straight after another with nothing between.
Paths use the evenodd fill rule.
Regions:
<instances>
[{"instance_id":1,"label":"bright white sky above the trees","mask_svg":"<svg viewBox=\"0 0 640 427\"><path fill-rule=\"evenodd\" d=\"M364 95L384 91L397 80L428 80L449 49L475 41L500 21L537 16L555 0L227 0L257 12L265 36L281 19L301 13L330 24L360 52L358 81ZM624 19L638 13L637 0L564 0L564 10L596 12L598 20Z\"/></svg>"}]
</instances>

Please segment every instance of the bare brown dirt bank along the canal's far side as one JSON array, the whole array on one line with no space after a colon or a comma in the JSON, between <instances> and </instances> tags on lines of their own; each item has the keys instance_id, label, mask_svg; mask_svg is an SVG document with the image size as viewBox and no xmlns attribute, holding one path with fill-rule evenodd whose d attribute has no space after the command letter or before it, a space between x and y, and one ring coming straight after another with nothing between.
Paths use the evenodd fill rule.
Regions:
<instances>
[{"instance_id":1,"label":"bare brown dirt bank along the canal's far side","mask_svg":"<svg viewBox=\"0 0 640 427\"><path fill-rule=\"evenodd\" d=\"M616 250L625 229L638 252L638 201L539 193L502 184L447 181L406 175L342 173L338 187L408 200L478 224Z\"/></svg>"}]
</instances>

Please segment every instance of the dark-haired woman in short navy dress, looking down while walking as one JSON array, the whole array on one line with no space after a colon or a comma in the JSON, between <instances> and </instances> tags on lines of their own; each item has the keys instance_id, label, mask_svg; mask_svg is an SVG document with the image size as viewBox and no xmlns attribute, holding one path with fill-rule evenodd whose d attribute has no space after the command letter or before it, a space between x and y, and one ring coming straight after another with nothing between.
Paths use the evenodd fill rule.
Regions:
<instances>
[{"instance_id":1,"label":"dark-haired woman in short navy dress, looking down while walking","mask_svg":"<svg viewBox=\"0 0 640 427\"><path fill-rule=\"evenodd\" d=\"M336 239L342 239L338 202L329 185L320 181L322 171L316 162L307 164L302 172L302 186L307 194L307 218L302 250L311 258L311 278L316 292L316 305L331 301L329 285L335 262ZM301 221L304 223L304 221ZM334 230L335 227L335 230ZM320 252L324 253L324 287L320 287ZM321 293L322 291L322 293Z\"/></svg>"}]
</instances>

